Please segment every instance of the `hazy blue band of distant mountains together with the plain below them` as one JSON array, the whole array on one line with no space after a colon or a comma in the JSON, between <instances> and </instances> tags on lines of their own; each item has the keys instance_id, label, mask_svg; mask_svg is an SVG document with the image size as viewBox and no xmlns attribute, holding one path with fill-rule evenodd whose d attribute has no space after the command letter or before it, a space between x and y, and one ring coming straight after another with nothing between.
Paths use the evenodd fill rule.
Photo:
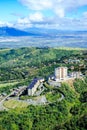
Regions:
<instances>
[{"instance_id":1,"label":"hazy blue band of distant mountains together with the plain below them","mask_svg":"<svg viewBox=\"0 0 87 130\"><path fill-rule=\"evenodd\" d=\"M87 31L0 27L0 48L31 46L87 48Z\"/></svg>"}]
</instances>

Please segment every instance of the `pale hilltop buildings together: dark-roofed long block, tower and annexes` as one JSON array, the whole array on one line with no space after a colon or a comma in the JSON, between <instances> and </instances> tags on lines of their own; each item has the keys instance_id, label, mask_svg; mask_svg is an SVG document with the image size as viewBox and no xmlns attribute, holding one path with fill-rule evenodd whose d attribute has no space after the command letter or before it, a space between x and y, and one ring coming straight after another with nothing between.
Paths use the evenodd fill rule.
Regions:
<instances>
[{"instance_id":1,"label":"pale hilltop buildings together: dark-roofed long block, tower and annexes","mask_svg":"<svg viewBox=\"0 0 87 130\"><path fill-rule=\"evenodd\" d=\"M54 86L60 86L61 81L69 80L72 78L80 78L82 76L81 72L72 72L68 73L67 67L58 67L55 68L53 77L49 77L50 84ZM27 87L28 95L33 96L37 88L44 81L43 78L34 78L31 84ZM52 82L51 82L52 81Z\"/></svg>"}]
</instances>

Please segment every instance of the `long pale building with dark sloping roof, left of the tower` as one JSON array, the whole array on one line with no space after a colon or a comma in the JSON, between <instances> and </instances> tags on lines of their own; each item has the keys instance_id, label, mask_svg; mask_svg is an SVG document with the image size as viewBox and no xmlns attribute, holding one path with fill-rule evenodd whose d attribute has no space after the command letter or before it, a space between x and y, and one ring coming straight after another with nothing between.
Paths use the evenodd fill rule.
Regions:
<instances>
[{"instance_id":1,"label":"long pale building with dark sloping roof, left of the tower","mask_svg":"<svg viewBox=\"0 0 87 130\"><path fill-rule=\"evenodd\" d=\"M43 78L34 78L31 84L27 87L28 95L33 96L39 85L44 81Z\"/></svg>"}]
</instances>

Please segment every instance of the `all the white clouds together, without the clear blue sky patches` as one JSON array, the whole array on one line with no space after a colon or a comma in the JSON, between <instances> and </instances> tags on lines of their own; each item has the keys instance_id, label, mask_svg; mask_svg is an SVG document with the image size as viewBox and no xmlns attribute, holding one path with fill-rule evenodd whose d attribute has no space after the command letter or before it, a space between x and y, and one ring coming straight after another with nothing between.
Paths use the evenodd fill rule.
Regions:
<instances>
[{"instance_id":1,"label":"all the white clouds together, without the clear blue sky patches","mask_svg":"<svg viewBox=\"0 0 87 130\"><path fill-rule=\"evenodd\" d=\"M17 28L42 27L56 29L87 29L87 12L81 17L73 18L71 15L67 17L68 12L76 11L81 6L87 5L87 0L18 0L22 5L26 6L29 11L28 16L23 17L20 14L13 13L18 16L18 20L13 23ZM49 12L52 15L49 15ZM46 15L46 12L48 15ZM10 23L0 22L0 25L11 25Z\"/></svg>"}]
</instances>

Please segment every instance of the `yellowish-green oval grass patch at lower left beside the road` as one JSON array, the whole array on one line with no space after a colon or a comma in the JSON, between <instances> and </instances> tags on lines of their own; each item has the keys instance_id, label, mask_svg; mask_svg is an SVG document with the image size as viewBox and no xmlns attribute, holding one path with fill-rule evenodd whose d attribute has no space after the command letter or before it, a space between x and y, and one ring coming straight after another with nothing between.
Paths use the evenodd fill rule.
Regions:
<instances>
[{"instance_id":1,"label":"yellowish-green oval grass patch at lower left beside the road","mask_svg":"<svg viewBox=\"0 0 87 130\"><path fill-rule=\"evenodd\" d=\"M23 107L27 107L29 104L26 102L22 102L22 101L17 101L14 99L10 99L8 101L5 101L3 104L6 108L8 109L14 109L14 108L23 108Z\"/></svg>"}]
</instances>

